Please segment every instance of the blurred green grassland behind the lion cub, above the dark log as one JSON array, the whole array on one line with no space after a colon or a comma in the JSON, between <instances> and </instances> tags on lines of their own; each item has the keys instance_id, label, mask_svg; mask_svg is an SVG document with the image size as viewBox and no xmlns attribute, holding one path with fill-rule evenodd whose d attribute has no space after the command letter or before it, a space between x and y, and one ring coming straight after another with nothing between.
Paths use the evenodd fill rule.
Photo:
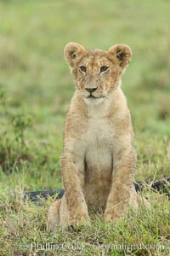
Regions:
<instances>
[{"instance_id":1,"label":"blurred green grassland behind the lion cub, above the dark log","mask_svg":"<svg viewBox=\"0 0 170 256\"><path fill-rule=\"evenodd\" d=\"M133 60L122 77L136 136L136 179L170 170L170 2L0 1L1 187L58 189L65 114L74 83L65 44L109 49Z\"/></svg>"}]
</instances>

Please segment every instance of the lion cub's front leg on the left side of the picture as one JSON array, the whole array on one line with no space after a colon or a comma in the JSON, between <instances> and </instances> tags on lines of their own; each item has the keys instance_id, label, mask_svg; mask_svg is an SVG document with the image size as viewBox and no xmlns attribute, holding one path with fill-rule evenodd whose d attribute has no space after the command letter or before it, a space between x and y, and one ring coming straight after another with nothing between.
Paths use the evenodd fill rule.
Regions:
<instances>
[{"instance_id":1,"label":"lion cub's front leg on the left side of the picture","mask_svg":"<svg viewBox=\"0 0 170 256\"><path fill-rule=\"evenodd\" d=\"M81 159L78 162L77 159ZM62 179L65 189L65 204L62 212L67 212L67 225L87 224L89 220L88 207L83 195L84 167L83 158L71 154L64 154L61 158ZM66 209L65 209L66 208ZM63 224L63 223L62 223Z\"/></svg>"}]
</instances>

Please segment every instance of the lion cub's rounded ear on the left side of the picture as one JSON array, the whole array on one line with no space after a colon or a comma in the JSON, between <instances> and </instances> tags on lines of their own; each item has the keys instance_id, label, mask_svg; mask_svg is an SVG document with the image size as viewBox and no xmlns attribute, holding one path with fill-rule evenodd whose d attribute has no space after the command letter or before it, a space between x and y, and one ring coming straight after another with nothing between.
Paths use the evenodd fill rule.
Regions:
<instances>
[{"instance_id":1,"label":"lion cub's rounded ear on the left side of the picture","mask_svg":"<svg viewBox=\"0 0 170 256\"><path fill-rule=\"evenodd\" d=\"M65 45L64 55L66 61L69 63L70 67L74 67L75 63L82 58L85 53L85 49L81 44L71 42Z\"/></svg>"}]
</instances>

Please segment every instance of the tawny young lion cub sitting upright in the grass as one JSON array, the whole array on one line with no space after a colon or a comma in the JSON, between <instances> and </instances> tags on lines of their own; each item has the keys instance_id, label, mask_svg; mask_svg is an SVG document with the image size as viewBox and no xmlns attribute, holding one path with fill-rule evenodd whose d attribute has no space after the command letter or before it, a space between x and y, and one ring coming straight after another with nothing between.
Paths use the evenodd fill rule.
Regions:
<instances>
[{"instance_id":1,"label":"tawny young lion cub sitting upright in the grass","mask_svg":"<svg viewBox=\"0 0 170 256\"><path fill-rule=\"evenodd\" d=\"M64 197L48 211L48 226L86 224L88 208L117 221L127 206L138 208L133 188L136 154L133 126L121 90L122 73L132 56L126 44L108 51L65 46L76 92L65 120L61 175Z\"/></svg>"}]
</instances>

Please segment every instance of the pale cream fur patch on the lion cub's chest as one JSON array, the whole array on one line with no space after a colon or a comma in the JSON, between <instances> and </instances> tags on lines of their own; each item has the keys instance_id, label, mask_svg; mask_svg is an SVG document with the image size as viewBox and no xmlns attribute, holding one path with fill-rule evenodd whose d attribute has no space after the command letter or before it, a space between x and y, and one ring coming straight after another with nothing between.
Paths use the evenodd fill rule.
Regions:
<instances>
[{"instance_id":1,"label":"pale cream fur patch on the lion cub's chest","mask_svg":"<svg viewBox=\"0 0 170 256\"><path fill-rule=\"evenodd\" d=\"M105 118L89 120L85 141L85 161L88 172L91 172L91 176L94 173L95 176L103 176L103 172L107 172L108 175L112 170L113 145L111 142L111 128Z\"/></svg>"}]
</instances>

